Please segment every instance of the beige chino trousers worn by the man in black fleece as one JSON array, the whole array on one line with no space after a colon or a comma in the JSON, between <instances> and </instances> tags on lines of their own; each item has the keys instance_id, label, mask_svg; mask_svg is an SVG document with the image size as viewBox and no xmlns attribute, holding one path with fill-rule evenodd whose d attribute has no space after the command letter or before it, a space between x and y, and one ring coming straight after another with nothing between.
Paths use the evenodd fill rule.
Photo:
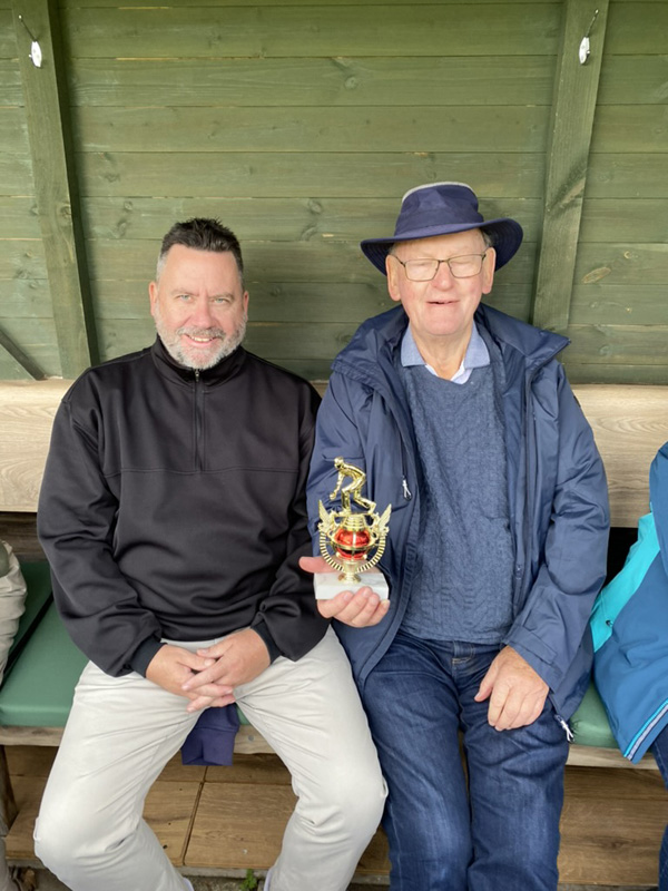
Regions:
<instances>
[{"instance_id":1,"label":"beige chino trousers worn by the man in black fleece","mask_svg":"<svg viewBox=\"0 0 668 891\"><path fill-rule=\"evenodd\" d=\"M336 635L296 663L277 658L235 695L298 797L272 891L343 891L380 822L385 784ZM148 790L197 721L186 705L141 675L84 669L35 830L38 856L72 891L186 888L143 820Z\"/></svg>"}]
</instances>

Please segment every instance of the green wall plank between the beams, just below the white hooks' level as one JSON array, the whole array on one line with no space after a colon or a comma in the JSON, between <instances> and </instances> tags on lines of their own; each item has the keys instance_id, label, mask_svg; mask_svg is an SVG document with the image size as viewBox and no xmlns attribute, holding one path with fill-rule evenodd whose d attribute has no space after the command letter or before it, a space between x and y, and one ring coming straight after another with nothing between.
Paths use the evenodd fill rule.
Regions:
<instances>
[{"instance_id":1,"label":"green wall plank between the beams, just below the white hooks' level","mask_svg":"<svg viewBox=\"0 0 668 891\"><path fill-rule=\"evenodd\" d=\"M640 57L642 58L642 57ZM8 62L8 66L10 62ZM549 105L554 58L340 56L255 59L78 59L75 106L494 106ZM0 70L2 70L0 68ZM11 69L10 69L11 70ZM8 72L9 74L9 72ZM651 90L660 70L649 72ZM645 95L645 94L644 94ZM618 99L618 101L621 101ZM20 104L20 101L19 101Z\"/></svg>"}]
</instances>

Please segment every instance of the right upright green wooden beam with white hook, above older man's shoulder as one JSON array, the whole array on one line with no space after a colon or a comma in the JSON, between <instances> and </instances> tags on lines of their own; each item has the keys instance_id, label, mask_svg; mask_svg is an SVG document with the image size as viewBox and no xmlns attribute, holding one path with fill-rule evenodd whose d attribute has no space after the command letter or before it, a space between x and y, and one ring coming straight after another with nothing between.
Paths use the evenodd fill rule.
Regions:
<instances>
[{"instance_id":1,"label":"right upright green wooden beam with white hook, above older man's shoulder","mask_svg":"<svg viewBox=\"0 0 668 891\"><path fill-rule=\"evenodd\" d=\"M566 0L532 313L533 324L550 331L568 326L607 21L608 0ZM578 50L590 25L582 65Z\"/></svg>"}]
</instances>

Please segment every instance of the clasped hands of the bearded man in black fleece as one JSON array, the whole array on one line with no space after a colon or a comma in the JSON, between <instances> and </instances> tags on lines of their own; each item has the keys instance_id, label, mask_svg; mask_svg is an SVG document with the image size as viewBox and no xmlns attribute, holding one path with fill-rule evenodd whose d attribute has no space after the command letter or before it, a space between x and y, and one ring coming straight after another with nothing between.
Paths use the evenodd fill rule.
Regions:
<instances>
[{"instance_id":1,"label":"clasped hands of the bearded man in black fleece","mask_svg":"<svg viewBox=\"0 0 668 891\"><path fill-rule=\"evenodd\" d=\"M234 688L256 678L269 663L262 637L246 628L197 653L165 644L150 660L146 677L187 697L187 712L199 712L235 702Z\"/></svg>"}]
</instances>

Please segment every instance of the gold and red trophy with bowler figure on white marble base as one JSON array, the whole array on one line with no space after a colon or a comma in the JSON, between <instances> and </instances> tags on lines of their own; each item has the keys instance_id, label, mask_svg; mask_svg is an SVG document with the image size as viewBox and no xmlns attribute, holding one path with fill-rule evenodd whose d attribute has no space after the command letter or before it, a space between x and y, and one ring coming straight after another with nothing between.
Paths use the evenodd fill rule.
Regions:
<instances>
[{"instance_id":1,"label":"gold and red trophy with bowler figure on white marble base","mask_svg":"<svg viewBox=\"0 0 668 891\"><path fill-rule=\"evenodd\" d=\"M387 505L382 515L376 513L375 502L362 496L366 473L343 458L335 458L334 467L338 478L330 498L333 501L341 495L341 510L327 513L320 501L318 531L321 554L340 575L316 572L315 596L318 600L328 600L340 591L365 586L372 588L381 600L386 600L387 582L383 574L373 568L385 550L392 506ZM344 486L347 477L351 481ZM363 510L354 510L353 503Z\"/></svg>"}]
</instances>

